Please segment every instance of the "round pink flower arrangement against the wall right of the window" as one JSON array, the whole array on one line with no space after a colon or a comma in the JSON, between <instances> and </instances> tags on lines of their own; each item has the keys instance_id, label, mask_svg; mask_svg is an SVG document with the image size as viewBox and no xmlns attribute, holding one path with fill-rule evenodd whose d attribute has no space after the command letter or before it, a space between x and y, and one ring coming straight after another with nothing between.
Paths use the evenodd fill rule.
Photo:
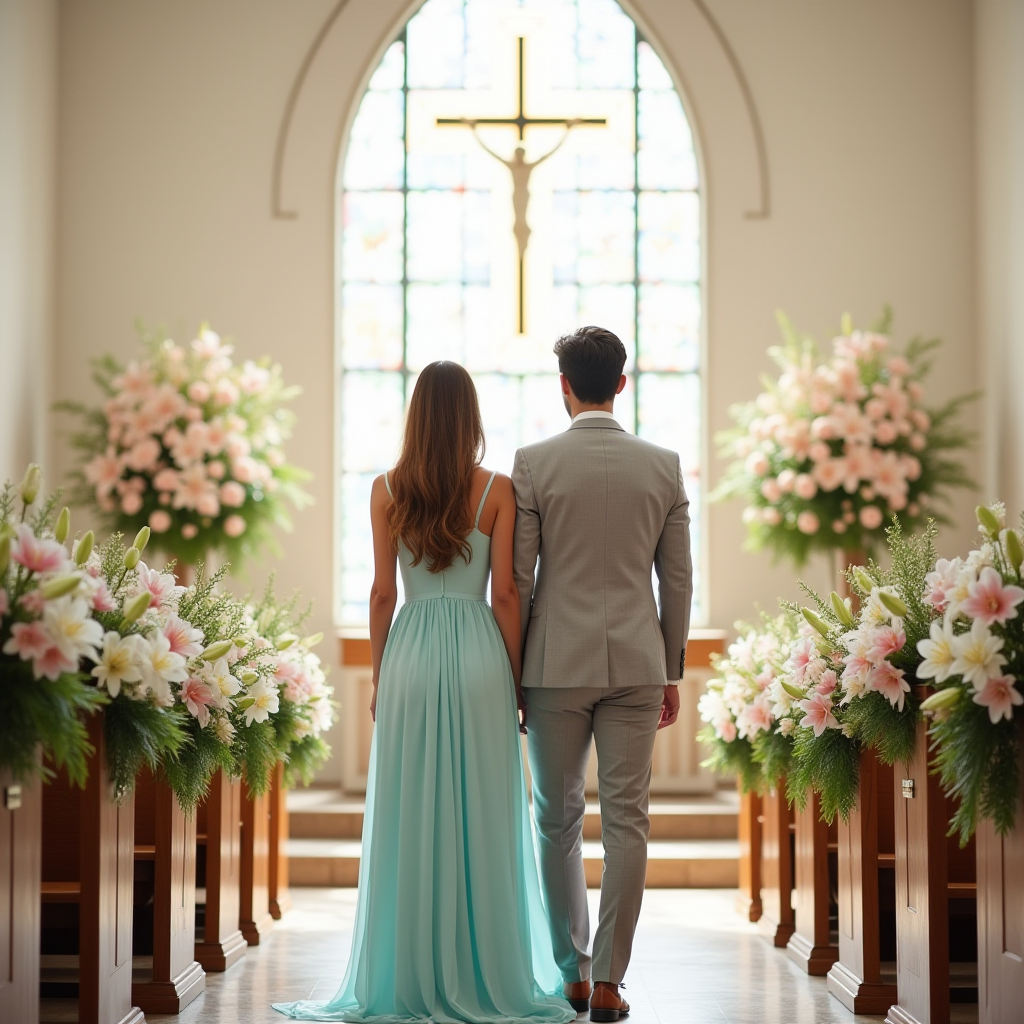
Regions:
<instances>
[{"instance_id":1,"label":"round pink flower arrangement against the wall right of the window","mask_svg":"<svg viewBox=\"0 0 1024 1024\"><path fill-rule=\"evenodd\" d=\"M935 517L944 488L970 480L949 453L968 435L952 423L971 395L941 409L924 403L925 358L939 343L899 352L887 334L856 331L849 317L829 358L779 316L784 343L769 349L781 374L752 402L733 408L721 435L732 460L715 499L738 497L754 549L803 563L812 551L870 551L883 525Z\"/></svg>"}]
</instances>

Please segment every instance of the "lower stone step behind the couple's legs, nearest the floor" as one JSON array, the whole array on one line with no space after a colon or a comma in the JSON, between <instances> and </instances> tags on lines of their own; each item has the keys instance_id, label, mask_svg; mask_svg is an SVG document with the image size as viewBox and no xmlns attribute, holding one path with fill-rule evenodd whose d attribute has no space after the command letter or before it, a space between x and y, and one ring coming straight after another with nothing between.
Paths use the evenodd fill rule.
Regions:
<instances>
[{"instance_id":1,"label":"lower stone step behind the couple's legs, nearest the floor","mask_svg":"<svg viewBox=\"0 0 1024 1024\"><path fill-rule=\"evenodd\" d=\"M291 839L289 877L293 886L351 887L359 880L360 843L354 839ZM583 845L587 885L601 884L600 843ZM738 885L739 844L735 840L656 840L647 851L648 889L733 889Z\"/></svg>"}]
</instances>

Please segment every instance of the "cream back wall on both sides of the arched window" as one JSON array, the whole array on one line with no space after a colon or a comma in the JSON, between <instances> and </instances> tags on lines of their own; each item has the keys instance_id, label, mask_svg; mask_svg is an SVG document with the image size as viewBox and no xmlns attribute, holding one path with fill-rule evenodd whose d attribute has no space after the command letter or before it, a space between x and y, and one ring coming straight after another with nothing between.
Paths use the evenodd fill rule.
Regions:
<instances>
[{"instance_id":1,"label":"cream back wall on both sides of the arched window","mask_svg":"<svg viewBox=\"0 0 1024 1024\"><path fill-rule=\"evenodd\" d=\"M314 139L290 155L286 209L271 216L279 125L333 0L131 0L60 7L56 397L95 397L88 361L127 356L132 321L178 336L209 318L246 355L272 352L305 394L290 451L315 473L316 505L285 539L283 589L315 600L329 630L334 538L334 158L352 104L400 22L399 0L349 0L330 79L293 129ZM827 339L840 313L896 310L900 339L941 335L936 399L976 386L973 37L968 0L710 0L707 9L750 84L766 142L768 216L759 203L748 115L717 91L709 50L693 54L694 0L630 9L686 89L708 173L709 436L771 369L774 310ZM696 20L694 20L696 19ZM683 55L688 54L686 60ZM319 79L317 79L319 76ZM302 121L302 119L306 119ZM304 134L303 134L304 133ZM738 141L733 141L738 140ZM57 426L60 426L59 424ZM66 456L58 459L61 470ZM505 468L505 467L500 467ZM710 464L710 480L721 472ZM956 505L962 547L972 497ZM797 596L795 575L740 552L735 505L709 509L710 625L755 602ZM808 580L830 586L823 564ZM243 580L243 583L245 579ZM332 652L333 653L333 652ZM361 713L361 709L356 709ZM337 778L340 760L326 778Z\"/></svg>"}]
</instances>

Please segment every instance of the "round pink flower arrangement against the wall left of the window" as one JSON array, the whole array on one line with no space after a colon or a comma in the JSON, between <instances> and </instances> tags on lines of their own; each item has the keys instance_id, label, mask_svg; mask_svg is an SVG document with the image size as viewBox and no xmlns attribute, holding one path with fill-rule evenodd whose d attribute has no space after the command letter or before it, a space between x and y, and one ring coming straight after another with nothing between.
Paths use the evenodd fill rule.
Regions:
<instances>
[{"instance_id":1,"label":"round pink flower arrangement against the wall left of the window","mask_svg":"<svg viewBox=\"0 0 1024 1024\"><path fill-rule=\"evenodd\" d=\"M288 503L301 507L308 478L283 449L298 393L269 360L232 360L233 347L207 326L189 345L144 337L146 354L126 368L113 359L95 379L100 410L81 414L75 437L84 456L77 500L93 505L112 529L143 525L155 546L195 564L219 551L233 561L290 527Z\"/></svg>"}]
</instances>

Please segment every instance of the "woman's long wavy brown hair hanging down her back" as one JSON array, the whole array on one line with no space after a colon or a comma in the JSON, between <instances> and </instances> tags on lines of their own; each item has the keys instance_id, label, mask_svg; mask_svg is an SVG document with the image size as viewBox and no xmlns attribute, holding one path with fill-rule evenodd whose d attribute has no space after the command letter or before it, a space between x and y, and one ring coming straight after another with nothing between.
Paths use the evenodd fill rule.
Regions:
<instances>
[{"instance_id":1,"label":"woman's long wavy brown hair hanging down her back","mask_svg":"<svg viewBox=\"0 0 1024 1024\"><path fill-rule=\"evenodd\" d=\"M388 508L392 546L402 541L413 564L442 572L473 550L469 507L473 471L483 459L483 424L476 388L458 362L425 367L409 403L401 455L391 471Z\"/></svg>"}]
</instances>

